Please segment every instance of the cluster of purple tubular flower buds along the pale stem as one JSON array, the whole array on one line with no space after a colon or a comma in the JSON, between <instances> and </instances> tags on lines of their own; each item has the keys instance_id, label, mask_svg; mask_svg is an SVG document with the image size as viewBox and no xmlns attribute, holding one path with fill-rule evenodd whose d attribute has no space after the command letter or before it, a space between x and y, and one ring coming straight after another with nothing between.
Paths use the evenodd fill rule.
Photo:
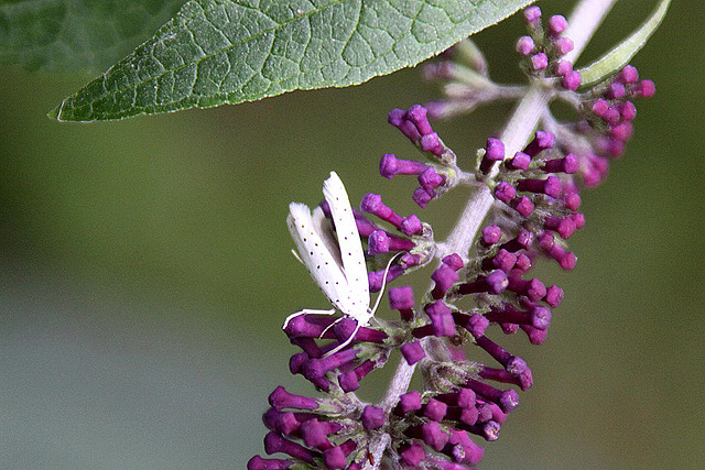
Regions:
<instances>
[{"instance_id":1,"label":"cluster of purple tubular flower buds along the pale stem","mask_svg":"<svg viewBox=\"0 0 705 470\"><path fill-rule=\"evenodd\" d=\"M507 154L505 143L490 138L478 151L474 171L464 172L429 121L429 116L453 112L430 112L415 105L389 113L389 123L425 160L383 155L381 175L415 176L419 186L412 198L421 208L458 185L486 185L495 198L491 223L481 229L469 252L440 255L441 245L427 223L415 215L397 214L380 195L362 197L354 217L372 266L370 291L379 292L386 282L437 259L431 287L420 297L410 286L391 287L389 303L398 320L358 328L351 318L306 314L289 321L284 332L301 349L291 357L290 371L324 395L311 398L281 386L274 390L263 416L269 429L264 448L268 455L284 457L256 456L249 470L467 469L484 453L473 436L496 440L519 405L518 390L533 385L527 362L502 348L498 337L521 330L532 345L546 340L563 291L531 276L531 270L540 259L553 260L566 271L575 267L577 259L566 240L585 226L578 212L579 190L605 177L609 159L621 154L631 135L631 99L653 95L654 87L627 66L576 92L579 74L561 58L573 48L562 35L565 19L552 17L544 26L536 7L527 9L524 17L531 34L519 40L517 51L529 64L529 77L552 80L555 97L572 102L578 118L558 122L546 109L544 130L521 151ZM434 73L452 80L465 77L467 89L488 84L468 78L465 72L470 68L442 64L446 65ZM478 76L486 72L477 56L474 64ZM475 96L480 95L481 90ZM468 96L448 96L431 109L468 109ZM330 218L326 203L322 209ZM394 349L422 373L424 389L403 390L380 404L361 402L355 395L361 381L383 367ZM380 442L382 450L375 453Z\"/></svg>"}]
</instances>

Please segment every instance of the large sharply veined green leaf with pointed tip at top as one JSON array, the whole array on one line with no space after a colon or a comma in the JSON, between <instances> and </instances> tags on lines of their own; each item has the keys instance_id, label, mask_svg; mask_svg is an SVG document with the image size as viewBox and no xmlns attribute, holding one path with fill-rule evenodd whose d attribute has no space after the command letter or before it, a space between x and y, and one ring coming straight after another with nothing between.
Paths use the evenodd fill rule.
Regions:
<instances>
[{"instance_id":1,"label":"large sharply veined green leaf with pointed tip at top","mask_svg":"<svg viewBox=\"0 0 705 470\"><path fill-rule=\"evenodd\" d=\"M192 0L50 116L111 120L357 85L416 65L530 0Z\"/></svg>"}]
</instances>

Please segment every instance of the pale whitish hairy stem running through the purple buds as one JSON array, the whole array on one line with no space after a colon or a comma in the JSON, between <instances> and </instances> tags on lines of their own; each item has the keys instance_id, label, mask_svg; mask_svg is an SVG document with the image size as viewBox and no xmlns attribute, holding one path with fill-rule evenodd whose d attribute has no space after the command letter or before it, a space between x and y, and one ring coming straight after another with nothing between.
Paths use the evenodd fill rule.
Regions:
<instances>
[{"instance_id":1,"label":"pale whitish hairy stem running through the purple buds","mask_svg":"<svg viewBox=\"0 0 705 470\"><path fill-rule=\"evenodd\" d=\"M565 32L565 35L574 42L574 50L565 56L566 59L575 63L616 1L581 0L576 4L568 20L568 30ZM540 83L535 83L530 87L500 135L505 143L506 155L513 155L529 142L549 103L549 99L550 94ZM492 175L490 174L490 177ZM446 242L438 243L437 256L443 258L451 253L457 253L464 261L467 261L467 253L469 253L471 243L492 204L494 197L488 186L485 185L475 190ZM399 395L405 393L409 389L413 372L414 367L409 365L406 361L401 359L381 403L386 412L389 412L397 404ZM369 450L373 456L375 463L367 462L364 469L379 469L387 442L389 442L389 436L380 436L372 439Z\"/></svg>"}]
</instances>

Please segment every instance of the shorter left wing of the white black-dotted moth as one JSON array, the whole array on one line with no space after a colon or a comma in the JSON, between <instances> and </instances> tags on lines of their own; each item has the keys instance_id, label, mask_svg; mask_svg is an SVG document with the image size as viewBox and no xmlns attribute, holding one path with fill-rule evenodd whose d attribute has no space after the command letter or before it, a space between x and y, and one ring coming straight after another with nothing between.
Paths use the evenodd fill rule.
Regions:
<instances>
[{"instance_id":1,"label":"shorter left wing of the white black-dotted moth","mask_svg":"<svg viewBox=\"0 0 705 470\"><path fill-rule=\"evenodd\" d=\"M338 247L323 211L317 208L312 216L307 206L292 203L286 223L308 274L328 300L345 311L349 288Z\"/></svg>"}]
</instances>

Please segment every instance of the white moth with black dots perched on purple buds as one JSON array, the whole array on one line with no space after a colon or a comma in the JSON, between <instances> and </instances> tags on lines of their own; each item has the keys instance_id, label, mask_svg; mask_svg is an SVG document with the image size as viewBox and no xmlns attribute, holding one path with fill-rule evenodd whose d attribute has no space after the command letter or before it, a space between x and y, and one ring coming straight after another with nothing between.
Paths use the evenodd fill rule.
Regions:
<instances>
[{"instance_id":1,"label":"white moth with black dots perched on purple buds","mask_svg":"<svg viewBox=\"0 0 705 470\"><path fill-rule=\"evenodd\" d=\"M330 172L330 177L323 184L323 194L330 207L336 228L335 236L321 207L316 207L312 214L307 206L292 203L289 206L286 222L299 251L296 258L306 266L311 277L333 306L357 323L352 335L328 352L333 354L349 345L360 327L369 324L379 298L375 308L370 309L367 266L360 233L355 223L348 194L335 172ZM335 309L303 309L290 315L283 328L286 328L289 320L299 315L334 313Z\"/></svg>"}]
</instances>

